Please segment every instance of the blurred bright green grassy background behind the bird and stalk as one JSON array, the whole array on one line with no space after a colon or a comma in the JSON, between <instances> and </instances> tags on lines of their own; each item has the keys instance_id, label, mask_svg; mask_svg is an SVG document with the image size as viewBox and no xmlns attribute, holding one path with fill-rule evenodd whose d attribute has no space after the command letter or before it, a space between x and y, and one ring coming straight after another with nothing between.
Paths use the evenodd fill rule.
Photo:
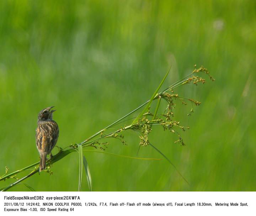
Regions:
<instances>
[{"instance_id":1,"label":"blurred bright green grassy background behind the bird and stalk","mask_svg":"<svg viewBox=\"0 0 256 216\"><path fill-rule=\"evenodd\" d=\"M202 102L177 106L190 130L155 128L151 142L176 165L85 152L95 191L256 190L256 1L1 1L0 175L39 159L37 114L55 106L57 145L79 143L144 103L163 87L205 66L216 79L176 93ZM134 115L135 116L135 115ZM122 125L120 125L122 126ZM125 132L107 152L136 156L139 138ZM57 153L55 148L53 153ZM140 157L162 158L153 148ZM24 181L37 191L78 190L79 157L53 175ZM18 175L17 177L22 177ZM0 187L14 182L8 179ZM17 185L11 190L28 190ZM86 176L82 190L88 190Z\"/></svg>"}]
</instances>

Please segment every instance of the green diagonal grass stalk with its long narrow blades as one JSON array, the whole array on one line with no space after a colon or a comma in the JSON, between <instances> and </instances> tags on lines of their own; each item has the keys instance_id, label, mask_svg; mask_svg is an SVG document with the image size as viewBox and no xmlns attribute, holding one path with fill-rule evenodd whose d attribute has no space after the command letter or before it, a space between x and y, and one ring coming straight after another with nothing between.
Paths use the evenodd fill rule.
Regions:
<instances>
[{"instance_id":1,"label":"green diagonal grass stalk with its long narrow blades","mask_svg":"<svg viewBox=\"0 0 256 216\"><path fill-rule=\"evenodd\" d=\"M201 70L206 70L205 68L201 67ZM199 69L198 69L199 70ZM169 69L170 71L170 69ZM152 103L153 100L155 99L159 99L158 100L158 104L156 105L156 109L155 109L155 112L154 112L154 115L153 116L153 121L156 121L156 116L157 116L157 112L158 112L158 109L159 109L159 106L160 106L160 100L161 100L161 97L165 96L164 94L167 93L168 91L174 89L174 88L177 88L177 87L180 87L181 85L184 85L184 84L187 84L187 83L190 83L191 79L192 78L189 78L192 76L192 74L194 72L192 72L191 74L187 75L186 77L180 79L179 81L173 83L172 85L170 85L168 88L164 89L162 92L158 93L160 87L162 86L162 84L164 83L169 71L166 73L165 77L162 79L160 85L158 86L158 88L156 89L156 91L154 92L154 94L151 96L150 100L146 101L144 104L140 105L139 107L137 107L136 109L134 109L133 111L129 112L127 115L123 116L122 118L119 118L117 121L113 122L112 124L110 124L109 126L105 127L104 129L98 131L97 133L95 133L94 135L92 135L91 137L85 139L84 141L82 141L81 143L79 144L75 144L75 145L69 145L67 146L66 148L64 149L60 149L59 150L59 153L57 153L56 155L52 156L50 159L47 160L47 166L51 165L51 164L54 164L55 162L61 160L63 157L69 155L70 153L72 152L77 152L77 148L78 148L78 152L79 152L79 164L80 164L80 168L79 168L79 190L81 189L81 182L82 182L82 165L84 165L85 167L85 171L86 171L86 175L87 175L87 180L88 180L88 183L89 183L89 189L91 190L91 177L90 177L90 172L89 172L89 167L88 167L88 164L87 164L87 161L85 162L84 159L84 155L83 155L83 151L82 148L85 148L85 147L90 147L90 146L93 146L93 143L95 142L98 142L98 140L101 140L101 139L104 139L104 138L116 138L116 134L122 132L122 131L126 131L128 129L133 129L134 131L137 131L138 129L136 127L140 127L142 124L139 123L140 119L143 117L145 118L145 116L149 115L150 113L145 113L147 111L147 109L149 108L150 104ZM209 73L207 71L207 73ZM212 77L210 77L212 79ZM213 79L214 80L214 79ZM166 98L164 98L166 100ZM145 106L146 105L146 106ZM142 112L139 113L139 115L137 117L135 117L135 120L133 121L132 124L130 124L129 126L126 126L124 128L120 128L112 133L108 133L108 134L105 134L105 135L102 135L102 133L104 131L106 131L107 129L111 129L112 126L115 126L116 124L118 123L121 123L122 120L124 120L126 117L132 115L134 112L136 112L137 110L139 110L140 108L142 108L143 106L144 109ZM166 108L166 110L168 109L168 106ZM132 119L132 118L130 118ZM128 120L126 120L128 121ZM122 121L123 122L123 121ZM154 124L152 125L161 125L162 123L157 123L157 122L154 122ZM100 135L100 137L96 138L96 139L93 139L95 137L97 137L98 135ZM150 144L150 143L149 143ZM163 154L161 153L156 147L154 147L152 144L150 144L156 151L158 151L162 156L164 156L164 158L169 161L171 163L171 161ZM140 147L140 146L139 146ZM92 151L92 150L91 150ZM139 151L139 149L138 149ZM96 151L96 152L100 152L100 153L104 153L104 152L101 152L101 151ZM107 154L111 154L111 155L115 155L115 154L112 154L112 153L107 153ZM138 155L138 153L137 153ZM118 156L118 155L117 155ZM120 155L119 155L120 156ZM129 157L129 158L133 158L133 159L141 159L141 160L158 160L158 159L145 159L145 158L139 158L139 157L130 157L130 156L124 156L124 157ZM86 160L86 159L85 159ZM177 170L177 168L171 163L171 165ZM27 171L28 169L30 168L34 168L33 171L26 175L25 177L21 178L21 179L18 179L16 182L10 184L9 186L5 187L5 188L2 188L1 191L6 191L8 189L10 189L11 187L14 187L15 185L17 184L20 184L20 182L24 181L25 179L31 177L32 175L36 174L39 172L39 162L36 162L34 164L31 164L29 166L26 166L20 170L17 170L15 172L11 172L11 173L5 173L3 176L0 177L0 181L5 181L6 179L8 178L14 178L18 173L21 173L21 172L24 172L24 171ZM187 182L187 180L181 175L181 173L177 170L177 172L179 173L179 175ZM187 182L188 183L188 182Z\"/></svg>"}]
</instances>

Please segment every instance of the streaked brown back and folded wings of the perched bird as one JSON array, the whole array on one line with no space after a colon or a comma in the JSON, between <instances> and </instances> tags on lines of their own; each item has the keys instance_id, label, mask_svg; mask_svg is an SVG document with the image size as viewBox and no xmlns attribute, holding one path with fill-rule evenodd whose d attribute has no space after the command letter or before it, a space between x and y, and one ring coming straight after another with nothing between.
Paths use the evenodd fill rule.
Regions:
<instances>
[{"instance_id":1,"label":"streaked brown back and folded wings of the perched bird","mask_svg":"<svg viewBox=\"0 0 256 216\"><path fill-rule=\"evenodd\" d=\"M55 121L39 124L36 129L36 144L39 152L50 154L57 143L59 127Z\"/></svg>"}]
</instances>

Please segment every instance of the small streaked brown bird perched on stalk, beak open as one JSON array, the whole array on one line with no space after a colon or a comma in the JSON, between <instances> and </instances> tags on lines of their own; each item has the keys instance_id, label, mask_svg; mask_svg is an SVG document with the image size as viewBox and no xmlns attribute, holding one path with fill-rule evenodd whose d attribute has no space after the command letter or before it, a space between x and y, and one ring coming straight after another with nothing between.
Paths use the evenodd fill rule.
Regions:
<instances>
[{"instance_id":1,"label":"small streaked brown bird perched on stalk, beak open","mask_svg":"<svg viewBox=\"0 0 256 216\"><path fill-rule=\"evenodd\" d=\"M36 129L36 145L40 154L40 172L46 168L46 156L52 156L52 149L59 137L59 126L53 121L54 106L41 110L38 114Z\"/></svg>"}]
</instances>

